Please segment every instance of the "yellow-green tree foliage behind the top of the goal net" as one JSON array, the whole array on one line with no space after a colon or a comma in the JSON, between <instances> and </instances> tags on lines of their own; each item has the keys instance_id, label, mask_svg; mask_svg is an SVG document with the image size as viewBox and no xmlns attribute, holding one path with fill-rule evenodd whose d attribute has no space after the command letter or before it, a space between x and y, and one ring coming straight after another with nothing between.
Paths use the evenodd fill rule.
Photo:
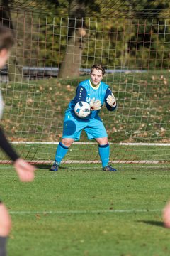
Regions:
<instances>
[{"instance_id":1,"label":"yellow-green tree foliage behind the top of the goal net","mask_svg":"<svg viewBox=\"0 0 170 256\"><path fill-rule=\"evenodd\" d=\"M16 14L19 4L21 11L25 10L22 14ZM60 67L72 37L70 31L84 28L81 68L94 63L107 68L169 67L170 28L169 20L164 19L169 1L104 0L91 4L88 0L50 0L42 4L38 0L8 0L1 5L11 11L17 56L24 54L21 65Z\"/></svg>"}]
</instances>

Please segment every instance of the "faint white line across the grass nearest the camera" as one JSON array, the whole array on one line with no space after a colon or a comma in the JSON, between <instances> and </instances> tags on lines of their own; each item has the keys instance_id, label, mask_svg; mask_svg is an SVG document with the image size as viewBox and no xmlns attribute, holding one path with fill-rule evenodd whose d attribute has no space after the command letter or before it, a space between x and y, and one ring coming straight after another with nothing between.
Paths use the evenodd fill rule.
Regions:
<instances>
[{"instance_id":1,"label":"faint white line across the grass nearest the camera","mask_svg":"<svg viewBox=\"0 0 170 256\"><path fill-rule=\"evenodd\" d=\"M130 210L44 210L44 211L9 211L13 215L24 214L84 214L84 213L157 213L162 212L162 209L130 209Z\"/></svg>"}]
</instances>

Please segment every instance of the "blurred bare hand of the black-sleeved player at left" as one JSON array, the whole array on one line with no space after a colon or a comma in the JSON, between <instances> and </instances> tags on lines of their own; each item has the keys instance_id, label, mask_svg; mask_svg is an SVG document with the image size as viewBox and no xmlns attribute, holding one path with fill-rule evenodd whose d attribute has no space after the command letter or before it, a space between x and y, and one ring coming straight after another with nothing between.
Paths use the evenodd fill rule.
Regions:
<instances>
[{"instance_id":1,"label":"blurred bare hand of the black-sleeved player at left","mask_svg":"<svg viewBox=\"0 0 170 256\"><path fill-rule=\"evenodd\" d=\"M13 166L16 169L16 173L18 174L20 181L33 181L35 171L35 167L33 165L28 164L26 161L19 158L13 163Z\"/></svg>"}]
</instances>

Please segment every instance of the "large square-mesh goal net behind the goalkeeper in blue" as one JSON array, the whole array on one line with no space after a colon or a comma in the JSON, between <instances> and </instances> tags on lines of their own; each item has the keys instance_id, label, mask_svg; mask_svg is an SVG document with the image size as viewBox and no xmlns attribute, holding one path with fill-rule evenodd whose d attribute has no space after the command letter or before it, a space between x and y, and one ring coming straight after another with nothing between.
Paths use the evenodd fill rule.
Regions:
<instances>
[{"instance_id":1,"label":"large square-mesh goal net behind the goalkeeper in blue","mask_svg":"<svg viewBox=\"0 0 170 256\"><path fill-rule=\"evenodd\" d=\"M4 9L1 9L3 13ZM170 20L69 18L11 9L16 44L1 70L8 139L21 156L51 162L62 137L64 111L95 63L118 102L101 110L111 144L111 162L164 163L170 157ZM1 153L1 162L8 161ZM65 162L99 162L98 145L81 140Z\"/></svg>"}]
</instances>

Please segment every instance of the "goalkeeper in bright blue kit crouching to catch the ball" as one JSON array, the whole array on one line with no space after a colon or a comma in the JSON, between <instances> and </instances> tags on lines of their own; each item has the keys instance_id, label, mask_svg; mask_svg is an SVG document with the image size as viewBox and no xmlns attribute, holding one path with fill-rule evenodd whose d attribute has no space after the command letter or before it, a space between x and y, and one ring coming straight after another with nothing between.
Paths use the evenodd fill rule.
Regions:
<instances>
[{"instance_id":1,"label":"goalkeeper in bright blue kit crouching to catch the ball","mask_svg":"<svg viewBox=\"0 0 170 256\"><path fill-rule=\"evenodd\" d=\"M69 107L65 112L62 140L57 146L55 162L50 168L51 171L58 171L69 146L74 141L79 140L83 129L88 139L95 139L98 142L98 152L101 157L103 171L116 171L113 166L108 165L110 152L108 134L101 118L98 116L104 102L108 111L113 111L116 108L116 100L111 88L102 82L104 74L105 70L102 65L93 65L91 67L91 78L80 82L78 85L76 95L69 102ZM90 103L91 114L89 117L81 119L74 113L74 106L79 101Z\"/></svg>"}]
</instances>

